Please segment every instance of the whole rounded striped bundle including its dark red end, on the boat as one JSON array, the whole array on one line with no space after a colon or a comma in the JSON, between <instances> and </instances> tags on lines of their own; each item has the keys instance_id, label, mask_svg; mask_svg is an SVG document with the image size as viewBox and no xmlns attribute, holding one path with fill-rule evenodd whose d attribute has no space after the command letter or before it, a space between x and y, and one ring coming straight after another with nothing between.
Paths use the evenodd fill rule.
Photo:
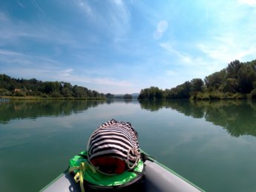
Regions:
<instances>
[{"instance_id":1,"label":"whole rounded striped bundle including its dark red end, on the boat","mask_svg":"<svg viewBox=\"0 0 256 192\"><path fill-rule=\"evenodd\" d=\"M119 174L140 159L138 134L129 122L112 119L100 125L88 142L88 160L98 171Z\"/></svg>"}]
</instances>

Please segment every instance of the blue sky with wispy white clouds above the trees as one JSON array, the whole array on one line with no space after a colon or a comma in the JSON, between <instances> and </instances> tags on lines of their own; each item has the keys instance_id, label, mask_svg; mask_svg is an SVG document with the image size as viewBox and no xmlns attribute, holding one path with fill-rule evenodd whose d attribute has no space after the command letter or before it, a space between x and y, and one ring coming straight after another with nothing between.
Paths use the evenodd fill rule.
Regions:
<instances>
[{"instance_id":1,"label":"blue sky with wispy white clouds above the trees","mask_svg":"<svg viewBox=\"0 0 256 192\"><path fill-rule=\"evenodd\" d=\"M256 0L0 0L0 73L170 89L256 59L255 18Z\"/></svg>"}]
</instances>

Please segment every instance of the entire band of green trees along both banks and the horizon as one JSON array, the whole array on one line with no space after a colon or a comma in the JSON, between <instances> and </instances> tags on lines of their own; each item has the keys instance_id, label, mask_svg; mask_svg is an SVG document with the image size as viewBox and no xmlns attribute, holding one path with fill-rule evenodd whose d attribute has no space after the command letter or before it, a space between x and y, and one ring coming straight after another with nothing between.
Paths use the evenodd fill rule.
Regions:
<instances>
[{"instance_id":1,"label":"entire band of green trees along both banks and the horizon","mask_svg":"<svg viewBox=\"0 0 256 192\"><path fill-rule=\"evenodd\" d=\"M234 60L226 68L206 76L192 79L177 87L161 90L159 87L142 89L140 94L114 95L99 93L68 82L42 82L37 79L13 79L0 74L0 99L144 99L219 100L256 99L256 59L251 62Z\"/></svg>"}]
</instances>

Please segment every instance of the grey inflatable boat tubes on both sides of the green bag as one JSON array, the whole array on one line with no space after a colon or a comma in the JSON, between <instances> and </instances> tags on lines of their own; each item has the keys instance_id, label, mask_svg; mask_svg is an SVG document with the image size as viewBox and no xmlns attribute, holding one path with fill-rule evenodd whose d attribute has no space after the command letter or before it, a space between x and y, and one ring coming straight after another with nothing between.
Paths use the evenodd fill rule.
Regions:
<instances>
[{"instance_id":1,"label":"grey inflatable boat tubes on both sides of the green bag","mask_svg":"<svg viewBox=\"0 0 256 192\"><path fill-rule=\"evenodd\" d=\"M172 171L170 168L165 167L160 162L153 158L145 160L145 176L140 184L140 188L135 188L136 191L145 192L198 192L203 191L187 179ZM56 179L45 186L41 191L54 192L54 191L81 191L79 183L76 183L73 176L65 171L60 174ZM96 191L87 190L85 191ZM125 191L122 188L117 191ZM126 190L127 191L127 190ZM131 191L131 190L128 190Z\"/></svg>"}]
</instances>

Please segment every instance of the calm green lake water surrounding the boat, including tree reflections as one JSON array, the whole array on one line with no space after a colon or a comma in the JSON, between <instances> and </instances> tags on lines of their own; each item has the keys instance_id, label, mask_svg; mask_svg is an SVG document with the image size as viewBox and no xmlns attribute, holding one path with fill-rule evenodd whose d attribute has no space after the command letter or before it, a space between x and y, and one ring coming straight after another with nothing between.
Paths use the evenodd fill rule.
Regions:
<instances>
[{"instance_id":1,"label":"calm green lake water surrounding the boat, including tree reflections","mask_svg":"<svg viewBox=\"0 0 256 192\"><path fill-rule=\"evenodd\" d=\"M110 119L206 191L256 191L256 102L0 102L0 191L39 191Z\"/></svg>"}]
</instances>

